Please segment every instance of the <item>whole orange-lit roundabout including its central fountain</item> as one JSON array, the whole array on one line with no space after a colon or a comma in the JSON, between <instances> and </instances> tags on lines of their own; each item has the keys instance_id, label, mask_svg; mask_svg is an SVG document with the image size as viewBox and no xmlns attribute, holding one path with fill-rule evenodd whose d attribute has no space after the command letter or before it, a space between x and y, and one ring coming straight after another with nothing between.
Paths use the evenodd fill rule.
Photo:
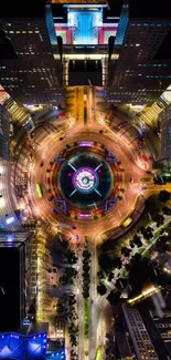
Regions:
<instances>
[{"instance_id":1,"label":"whole orange-lit roundabout including its central fountain","mask_svg":"<svg viewBox=\"0 0 171 360\"><path fill-rule=\"evenodd\" d=\"M78 126L76 132L71 128L63 141L46 135L30 174L29 199L34 214L53 227L75 225L81 236L117 229L136 212L140 179L146 176L133 148L118 142L110 131L99 134L99 124L86 130ZM42 154L44 165L40 167ZM38 183L42 198L35 191ZM140 214L138 210L136 218Z\"/></svg>"}]
</instances>

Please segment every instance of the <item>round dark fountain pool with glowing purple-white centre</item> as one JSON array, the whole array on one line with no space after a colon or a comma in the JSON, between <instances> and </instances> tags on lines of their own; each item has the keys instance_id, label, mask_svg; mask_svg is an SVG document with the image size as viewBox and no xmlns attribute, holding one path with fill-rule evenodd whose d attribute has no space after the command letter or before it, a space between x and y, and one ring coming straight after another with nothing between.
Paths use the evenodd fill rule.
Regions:
<instances>
[{"instance_id":1,"label":"round dark fountain pool with glowing purple-white centre","mask_svg":"<svg viewBox=\"0 0 171 360\"><path fill-rule=\"evenodd\" d=\"M55 177L68 208L86 208L89 214L92 208L103 206L113 184L111 168L103 157L90 151L70 157L61 166L58 176L55 172Z\"/></svg>"}]
</instances>

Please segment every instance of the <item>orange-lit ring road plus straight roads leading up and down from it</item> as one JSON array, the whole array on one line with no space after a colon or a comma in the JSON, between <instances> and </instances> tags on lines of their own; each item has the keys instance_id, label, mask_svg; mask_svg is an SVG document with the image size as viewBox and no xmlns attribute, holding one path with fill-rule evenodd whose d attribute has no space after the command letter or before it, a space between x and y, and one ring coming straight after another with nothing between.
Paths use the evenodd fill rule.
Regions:
<instances>
[{"instance_id":1,"label":"orange-lit ring road plus straight roads leading up and down from it","mask_svg":"<svg viewBox=\"0 0 171 360\"><path fill-rule=\"evenodd\" d=\"M85 96L86 95L86 96ZM66 225L66 233L75 235L71 229L72 225L76 225L77 234L81 238L81 245L84 241L84 236L88 235L92 246L92 282L90 282L90 308L89 308L89 360L95 359L96 348L101 340L103 335L103 317L101 310L106 302L106 296L97 297L96 294L96 246L101 241L103 234L107 230L117 228L122 220L128 217L135 209L137 198L142 193L141 178L147 177L146 171L151 167L151 162L142 161L140 152L135 151L135 144L128 130L111 130L104 122L104 115L101 111L97 109L96 90L92 86L87 86L86 94L83 86L76 86L73 91L67 93L67 111L71 112L71 119L66 116L56 120L53 112L50 116L43 117L43 121L50 121L50 124L39 126L34 131L34 138L30 141L29 152L34 153L34 161L31 164L30 157L25 154L25 146L20 151L18 167L26 168L29 175L29 192L25 198L22 200L25 204L31 204L30 207L33 215L38 218L42 218L45 222L50 222L52 226L57 224ZM74 104L74 106L73 106ZM87 124L84 123L84 106L87 107ZM104 133L99 133L104 130ZM63 140L60 141L60 137ZM74 220L66 217L63 214L53 214L53 203L49 202L50 193L46 184L46 169L50 162L54 160L55 155L60 153L66 144L74 142L89 141L103 143L106 148L111 152L121 161L124 168L122 183L125 192L122 199L118 200L115 208L106 214L105 217L95 219L79 219ZM43 166L40 166L41 163ZM130 181L131 179L131 181ZM35 184L39 183L43 189L43 197L39 198ZM161 188L161 187L160 187ZM165 188L165 185L164 185ZM153 192L159 192L157 187L147 188L143 194L148 197ZM51 216L51 218L50 218ZM82 251L78 254L78 277L76 285L77 294L77 310L78 310L78 354L79 359L84 360L85 341L84 341L84 304L82 297ZM103 344L103 343L101 343Z\"/></svg>"}]
</instances>

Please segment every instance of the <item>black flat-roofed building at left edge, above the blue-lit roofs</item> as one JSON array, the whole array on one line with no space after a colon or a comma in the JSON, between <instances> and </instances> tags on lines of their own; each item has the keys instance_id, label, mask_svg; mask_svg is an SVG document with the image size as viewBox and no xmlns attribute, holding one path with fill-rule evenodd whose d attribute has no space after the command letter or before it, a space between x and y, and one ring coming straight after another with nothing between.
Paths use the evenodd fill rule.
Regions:
<instances>
[{"instance_id":1,"label":"black flat-roofed building at left edge, above the blue-lit roofs","mask_svg":"<svg viewBox=\"0 0 171 360\"><path fill-rule=\"evenodd\" d=\"M17 331L25 317L25 249L31 235L0 232L0 331Z\"/></svg>"}]
</instances>

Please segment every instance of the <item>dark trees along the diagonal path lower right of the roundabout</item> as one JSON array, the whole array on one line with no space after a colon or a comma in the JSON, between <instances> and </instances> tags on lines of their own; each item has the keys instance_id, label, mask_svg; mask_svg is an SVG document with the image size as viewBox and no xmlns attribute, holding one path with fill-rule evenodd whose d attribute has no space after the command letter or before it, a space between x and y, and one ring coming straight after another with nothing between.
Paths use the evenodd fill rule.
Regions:
<instances>
[{"instance_id":1,"label":"dark trees along the diagonal path lower right of the roundabout","mask_svg":"<svg viewBox=\"0 0 171 360\"><path fill-rule=\"evenodd\" d=\"M163 191L159 194L159 199L162 203L167 203L170 199L170 193ZM158 214L153 217L153 222L157 223L157 226L160 227L164 224L164 216L171 215L171 208L164 206L162 208L163 214ZM163 284L168 281L165 280L165 276L158 267L158 271L153 268L153 264L148 258L142 258L140 254L136 254L130 259L130 254L132 248L137 246L138 248L142 247L143 239L150 240L154 236L154 229L151 226L141 227L138 230L139 234L136 234L132 239L129 241L129 247L124 246L121 248L121 256L128 258L128 263L125 259L125 269L127 271L127 278L117 279L115 290L110 291L107 296L108 301L111 305L117 305L120 301L120 295L125 287L129 286L129 290L131 292L140 294L141 288L146 282L156 281L158 284ZM143 239L142 239L143 236ZM160 236L156 243L156 249L160 253L164 253L170 250L170 234L168 236ZM124 260L124 259L122 259ZM99 295L105 295L107 292L107 288L104 285L104 279L107 277L108 281L111 281L114 278L114 270L120 269L122 266L122 260L119 257L116 257L111 253L101 253L98 257L98 263L100 266L100 270L98 271L99 285L97 286L97 291ZM158 280L157 280L158 274ZM129 280L128 280L129 279ZM170 282L170 281L169 281Z\"/></svg>"}]
</instances>

